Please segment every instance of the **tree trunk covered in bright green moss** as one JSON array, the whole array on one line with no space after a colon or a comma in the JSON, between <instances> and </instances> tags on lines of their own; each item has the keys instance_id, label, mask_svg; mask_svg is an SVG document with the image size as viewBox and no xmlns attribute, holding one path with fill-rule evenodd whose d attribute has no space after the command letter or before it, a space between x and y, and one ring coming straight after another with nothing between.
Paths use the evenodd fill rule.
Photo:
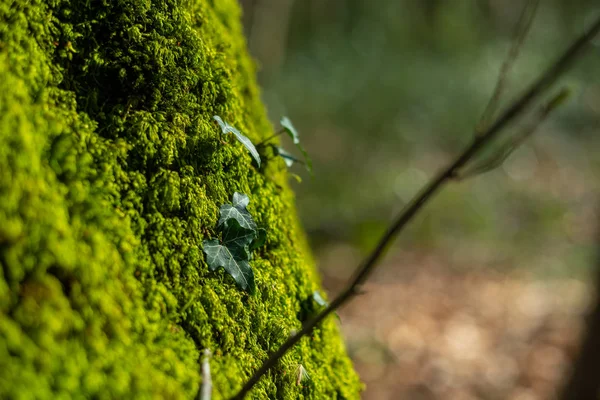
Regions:
<instances>
[{"instance_id":1,"label":"tree trunk covered in bright green moss","mask_svg":"<svg viewBox=\"0 0 600 400\"><path fill-rule=\"evenodd\" d=\"M0 398L213 399L301 325L318 277L234 0L0 0ZM234 192L267 234L256 293L210 271ZM305 311L305 310L304 310ZM300 385L302 365L311 380ZM358 398L336 321L253 398Z\"/></svg>"}]
</instances>

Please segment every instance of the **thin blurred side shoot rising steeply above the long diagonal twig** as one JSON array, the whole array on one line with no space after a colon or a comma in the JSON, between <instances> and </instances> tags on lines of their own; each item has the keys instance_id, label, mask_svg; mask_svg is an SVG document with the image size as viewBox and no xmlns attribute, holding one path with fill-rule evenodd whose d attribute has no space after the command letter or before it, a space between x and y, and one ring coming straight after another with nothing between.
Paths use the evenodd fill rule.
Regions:
<instances>
[{"instance_id":1,"label":"thin blurred side shoot rising steeply above the long diagonal twig","mask_svg":"<svg viewBox=\"0 0 600 400\"><path fill-rule=\"evenodd\" d=\"M502 98L502 95L506 90L508 74L512 66L514 65L517 57L519 56L519 52L521 51L521 47L525 42L527 33L529 33L529 29L531 28L531 24L533 22L533 17L535 17L535 13L539 4L539 0L529 0L527 4L525 4L525 7L523 7L521 17L519 18L519 22L517 22L517 29L515 30L512 45L510 47L508 55L502 63L502 67L500 68L500 73L498 75L498 79L496 80L496 87L494 88L494 93L492 94L490 101L485 107L485 111L483 112L479 122L477 123L477 127L475 129L477 134L482 134L485 131L485 129L489 126L489 123L492 120L492 118L494 118L494 114L496 113L498 109L498 104L500 103L500 99Z\"/></svg>"}]
</instances>

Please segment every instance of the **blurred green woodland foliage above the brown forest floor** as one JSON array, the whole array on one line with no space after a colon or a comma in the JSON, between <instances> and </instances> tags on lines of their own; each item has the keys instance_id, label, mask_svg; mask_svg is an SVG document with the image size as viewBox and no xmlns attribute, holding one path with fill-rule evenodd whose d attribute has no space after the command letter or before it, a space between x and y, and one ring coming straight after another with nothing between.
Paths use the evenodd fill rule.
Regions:
<instances>
[{"instance_id":1,"label":"blurred green woodland foliage above the brown forest floor","mask_svg":"<svg viewBox=\"0 0 600 400\"><path fill-rule=\"evenodd\" d=\"M471 140L525 4L242 3L270 116L290 116L314 161L295 188L313 245L359 254ZM541 3L503 106L600 13L592 0ZM573 90L568 104L501 168L447 187L397 245L457 267L585 273L600 220L598 67L596 45L555 88Z\"/></svg>"}]
</instances>

